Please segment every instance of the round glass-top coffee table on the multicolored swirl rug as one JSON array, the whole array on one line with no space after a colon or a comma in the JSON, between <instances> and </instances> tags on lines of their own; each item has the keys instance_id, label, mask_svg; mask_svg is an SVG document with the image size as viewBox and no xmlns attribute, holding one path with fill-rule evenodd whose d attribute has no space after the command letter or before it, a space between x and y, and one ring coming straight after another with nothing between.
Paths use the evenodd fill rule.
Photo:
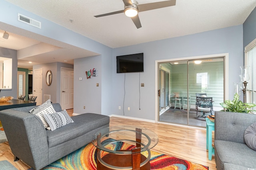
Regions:
<instances>
[{"instance_id":1,"label":"round glass-top coffee table on the multicolored swirl rug","mask_svg":"<svg viewBox=\"0 0 256 170\"><path fill-rule=\"evenodd\" d=\"M144 127L103 128L92 139L97 147L97 170L149 170L150 149L157 143L156 133Z\"/></svg>"}]
</instances>

